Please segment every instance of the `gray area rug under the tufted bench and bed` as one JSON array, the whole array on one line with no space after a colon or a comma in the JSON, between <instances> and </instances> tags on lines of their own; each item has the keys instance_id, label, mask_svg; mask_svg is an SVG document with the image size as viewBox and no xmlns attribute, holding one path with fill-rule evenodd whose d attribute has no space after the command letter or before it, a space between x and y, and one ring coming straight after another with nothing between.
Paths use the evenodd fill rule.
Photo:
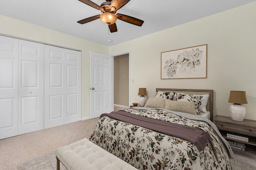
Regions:
<instances>
[{"instance_id":1,"label":"gray area rug under the tufted bench and bed","mask_svg":"<svg viewBox=\"0 0 256 170\"><path fill-rule=\"evenodd\" d=\"M256 170L256 166L241 162L238 159L231 159L230 162L232 170ZM55 152L51 152L22 163L18 165L18 170L56 170L56 154ZM61 162L60 170L66 170L65 166Z\"/></svg>"}]
</instances>

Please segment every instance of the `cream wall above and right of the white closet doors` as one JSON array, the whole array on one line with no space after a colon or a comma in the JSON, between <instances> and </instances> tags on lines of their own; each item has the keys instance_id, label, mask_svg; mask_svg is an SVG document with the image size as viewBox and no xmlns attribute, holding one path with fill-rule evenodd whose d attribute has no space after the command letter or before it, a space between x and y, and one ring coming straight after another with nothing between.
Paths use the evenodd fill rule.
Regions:
<instances>
[{"instance_id":1,"label":"cream wall above and right of the white closet doors","mask_svg":"<svg viewBox=\"0 0 256 170\"><path fill-rule=\"evenodd\" d=\"M108 54L109 47L2 15L0 34L82 51L82 118L90 117L90 51Z\"/></svg>"}]
</instances>

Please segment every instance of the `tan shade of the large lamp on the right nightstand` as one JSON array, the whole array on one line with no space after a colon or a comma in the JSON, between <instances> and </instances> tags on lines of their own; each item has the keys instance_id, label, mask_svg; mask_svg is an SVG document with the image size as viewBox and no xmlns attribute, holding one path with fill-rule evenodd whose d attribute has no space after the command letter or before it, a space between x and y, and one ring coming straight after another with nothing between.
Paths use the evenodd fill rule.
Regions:
<instances>
[{"instance_id":1,"label":"tan shade of the large lamp on the right nightstand","mask_svg":"<svg viewBox=\"0 0 256 170\"><path fill-rule=\"evenodd\" d=\"M229 103L248 104L245 91L230 91Z\"/></svg>"}]
</instances>

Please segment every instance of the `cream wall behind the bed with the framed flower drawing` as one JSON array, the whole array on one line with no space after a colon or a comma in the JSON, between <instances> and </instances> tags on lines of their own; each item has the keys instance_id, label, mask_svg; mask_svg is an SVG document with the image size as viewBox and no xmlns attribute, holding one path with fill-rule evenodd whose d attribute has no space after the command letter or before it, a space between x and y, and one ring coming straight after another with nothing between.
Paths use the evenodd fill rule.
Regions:
<instances>
[{"instance_id":1,"label":"cream wall behind the bed with the framed flower drawing","mask_svg":"<svg viewBox=\"0 0 256 170\"><path fill-rule=\"evenodd\" d=\"M256 120L256 2L110 47L130 50L131 101L138 88L154 97L156 88L214 90L214 115L229 116L230 90L246 91L246 119ZM142 26L143 27L143 26ZM160 79L161 52L208 44L207 78Z\"/></svg>"}]
</instances>

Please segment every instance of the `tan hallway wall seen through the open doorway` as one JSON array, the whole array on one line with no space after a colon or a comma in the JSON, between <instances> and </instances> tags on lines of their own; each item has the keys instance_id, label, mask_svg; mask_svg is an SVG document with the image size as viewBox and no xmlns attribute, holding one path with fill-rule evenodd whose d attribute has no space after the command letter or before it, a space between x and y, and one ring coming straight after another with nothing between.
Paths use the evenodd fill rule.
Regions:
<instances>
[{"instance_id":1,"label":"tan hallway wall seen through the open doorway","mask_svg":"<svg viewBox=\"0 0 256 170\"><path fill-rule=\"evenodd\" d=\"M114 104L129 106L129 54L114 57Z\"/></svg>"}]
</instances>

